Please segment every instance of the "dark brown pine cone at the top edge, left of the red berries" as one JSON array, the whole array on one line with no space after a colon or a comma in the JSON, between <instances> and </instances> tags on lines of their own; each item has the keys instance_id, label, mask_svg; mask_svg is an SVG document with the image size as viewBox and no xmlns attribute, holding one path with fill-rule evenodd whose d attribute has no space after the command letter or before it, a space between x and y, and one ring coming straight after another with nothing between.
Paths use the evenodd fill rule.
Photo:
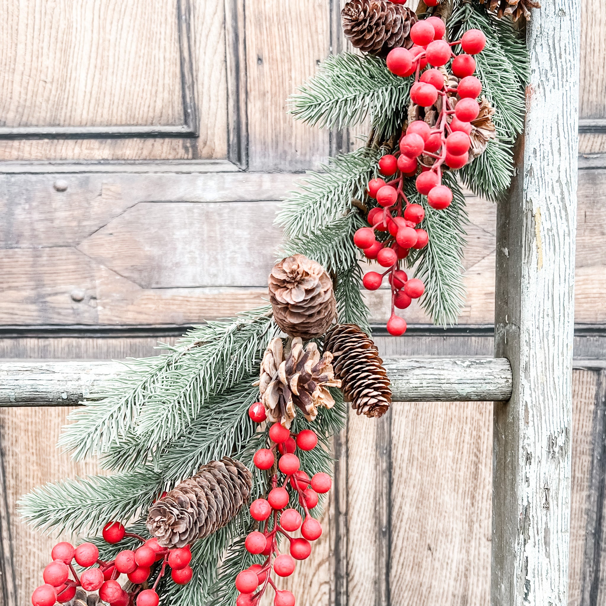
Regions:
<instances>
[{"instance_id":1,"label":"dark brown pine cone at the top edge, left of the red berries","mask_svg":"<svg viewBox=\"0 0 606 606\"><path fill-rule=\"evenodd\" d=\"M341 11L343 31L364 53L386 56L392 48L410 48L410 28L417 17L410 8L388 0L350 0Z\"/></svg>"}]
</instances>

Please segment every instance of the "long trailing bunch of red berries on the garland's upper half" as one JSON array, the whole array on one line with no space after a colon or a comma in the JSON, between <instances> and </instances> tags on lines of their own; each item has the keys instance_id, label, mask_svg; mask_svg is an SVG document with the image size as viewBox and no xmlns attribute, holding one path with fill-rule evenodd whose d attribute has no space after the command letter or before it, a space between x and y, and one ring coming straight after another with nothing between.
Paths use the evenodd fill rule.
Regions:
<instances>
[{"instance_id":1,"label":"long trailing bunch of red berries on the garland's upper half","mask_svg":"<svg viewBox=\"0 0 606 606\"><path fill-rule=\"evenodd\" d=\"M427 2L426 2L427 4ZM437 4L437 2L436 2ZM394 48L387 55L387 68L397 76L408 77L415 73L415 84L410 89L411 101L422 107L431 107L441 96L441 112L436 125L431 128L424 120L416 120L408 125L399 141L396 155L385 155L379 160L379 172L386 177L395 176L391 181L372 179L368 183L368 195L375 198L379 207L368 213L371 227L356 231L353 241L364 250L368 259L376 259L379 265L387 267L384 273L369 271L362 280L367 290L376 290L389 274L391 285L391 317L387 322L390 335L403 335L406 322L395 315L395 307L405 309L411 299L419 298L425 285L418 279L408 280L400 269L401 259L408 256L410 248L424 248L428 241L427 231L416 227L425 216L419 204L410 204L404 194L404 178L416 177L417 191L427 196L427 203L436 210L447 208L453 199L450 188L442 185L442 164L452 169L462 168L469 159L471 146L470 122L478 116L476 101L482 84L473 74L476 63L471 55L481 52L486 38L480 30L468 30L461 40L450 44L443 38L446 33L444 21L439 17L429 17L418 21L410 30L415 44L410 48ZM461 44L464 55L454 55L451 46ZM462 78L456 89L448 88L444 75L436 67L446 65L453 59L451 70ZM432 68L425 70L427 64ZM425 70L421 73L421 70ZM449 93L459 97L453 108ZM431 167L421 165L418 157L433 158ZM404 207L402 203L404 202ZM375 231L388 231L385 241L375 238Z\"/></svg>"}]
</instances>

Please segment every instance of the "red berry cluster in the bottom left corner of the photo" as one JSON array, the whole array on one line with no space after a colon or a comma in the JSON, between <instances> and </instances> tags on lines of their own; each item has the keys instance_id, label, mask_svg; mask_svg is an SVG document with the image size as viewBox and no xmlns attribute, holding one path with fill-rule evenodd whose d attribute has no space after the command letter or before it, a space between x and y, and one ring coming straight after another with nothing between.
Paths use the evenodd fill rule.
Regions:
<instances>
[{"instance_id":1,"label":"red berry cluster in the bottom left corner of the photo","mask_svg":"<svg viewBox=\"0 0 606 606\"><path fill-rule=\"evenodd\" d=\"M103 538L108 543L119 543L124 537L139 539L142 545L135 551L122 550L111 562L99 559L99 550L92 543L82 543L74 548L71 543L61 542L53 547L50 554L53 561L44 568L42 578L44 585L36 588L32 594L33 606L53 606L55 602L68 602L76 594L76 587L85 591L99 591L99 598L111 606L158 606L159 597L156 586L164 576L165 568L171 567L171 578L179 585L191 581L192 571L189 567L191 551L189 546L180 549L167 549L158 544L157 539L147 541L138 534L127 533L119 522L107 522L103 528ZM79 577L73 567L73 561L87 568ZM160 571L151 589L141 585L151 574L155 562ZM69 578L72 573L73 579ZM124 591L116 581L123 573L133 584L131 591Z\"/></svg>"}]
</instances>

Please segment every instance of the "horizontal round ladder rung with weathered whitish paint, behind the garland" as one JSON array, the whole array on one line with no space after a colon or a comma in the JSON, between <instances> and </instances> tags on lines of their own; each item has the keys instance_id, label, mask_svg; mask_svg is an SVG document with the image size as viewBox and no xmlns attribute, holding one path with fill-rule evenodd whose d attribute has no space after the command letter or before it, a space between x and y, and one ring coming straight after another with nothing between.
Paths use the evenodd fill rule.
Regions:
<instances>
[{"instance_id":1,"label":"horizontal round ladder rung with weathered whitish paint, behind the garland","mask_svg":"<svg viewBox=\"0 0 606 606\"><path fill-rule=\"evenodd\" d=\"M505 358L391 358L384 362L394 401L502 401L511 395ZM73 406L119 362L0 362L0 407Z\"/></svg>"}]
</instances>

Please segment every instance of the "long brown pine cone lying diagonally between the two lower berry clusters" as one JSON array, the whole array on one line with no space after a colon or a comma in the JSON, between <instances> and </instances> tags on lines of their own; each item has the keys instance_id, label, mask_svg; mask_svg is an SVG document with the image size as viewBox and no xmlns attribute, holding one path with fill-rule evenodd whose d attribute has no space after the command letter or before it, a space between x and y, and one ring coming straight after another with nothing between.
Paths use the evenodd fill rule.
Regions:
<instances>
[{"instance_id":1,"label":"long brown pine cone lying diagonally between the two lower berry clusters","mask_svg":"<svg viewBox=\"0 0 606 606\"><path fill-rule=\"evenodd\" d=\"M147 530L162 547L204 539L241 510L252 485L253 476L241 462L227 456L211 461L151 505Z\"/></svg>"}]
</instances>

